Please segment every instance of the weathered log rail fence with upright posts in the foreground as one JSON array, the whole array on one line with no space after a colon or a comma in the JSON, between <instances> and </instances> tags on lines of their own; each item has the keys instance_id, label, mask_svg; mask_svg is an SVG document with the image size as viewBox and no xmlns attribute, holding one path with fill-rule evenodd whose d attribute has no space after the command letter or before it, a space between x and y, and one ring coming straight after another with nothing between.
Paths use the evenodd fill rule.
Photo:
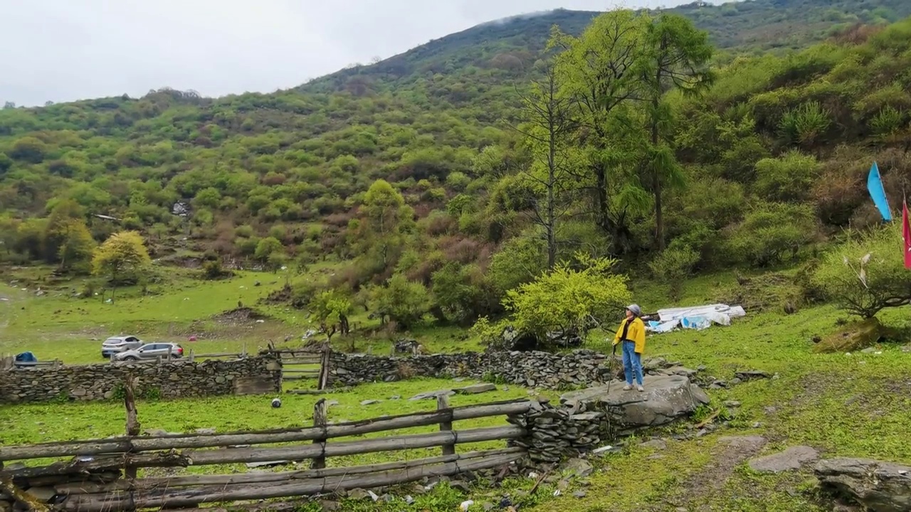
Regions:
<instances>
[{"instance_id":1,"label":"weathered log rail fence with upright posts in the foreground","mask_svg":"<svg viewBox=\"0 0 911 512\"><path fill-rule=\"evenodd\" d=\"M127 400L128 412L130 400ZM527 435L516 425L454 430L453 423L472 418L521 415L528 401L450 407L445 396L435 411L383 416L328 425L326 404L314 406L313 425L295 429L231 432L211 435L156 435L63 441L0 447L0 487L26 507L46 511L118 511L140 508L198 507L281 497L301 497L357 487L371 488L414 482L430 476L507 466L525 455L521 447L456 454L455 446ZM128 432L130 428L128 413ZM132 422L136 425L135 405ZM334 439L415 426L439 425L428 434ZM135 432L135 430L132 430ZM439 446L440 456L415 460L326 468L326 458ZM43 466L3 469L3 463L68 457ZM139 468L187 467L232 463L311 460L311 469L230 475L136 477ZM121 471L126 477L121 477ZM33 487L52 487L56 496L42 503ZM3 497L0 496L0 499Z\"/></svg>"}]
</instances>

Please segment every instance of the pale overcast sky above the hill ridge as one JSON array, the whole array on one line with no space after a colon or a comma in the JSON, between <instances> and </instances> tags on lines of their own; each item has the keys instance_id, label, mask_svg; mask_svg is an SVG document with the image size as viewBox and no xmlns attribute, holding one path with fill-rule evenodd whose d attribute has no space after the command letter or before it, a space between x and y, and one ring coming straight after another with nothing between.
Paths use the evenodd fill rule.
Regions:
<instances>
[{"instance_id":1,"label":"pale overcast sky above the hill ridge","mask_svg":"<svg viewBox=\"0 0 911 512\"><path fill-rule=\"evenodd\" d=\"M625 0L659 7L691 0ZM294 87L486 21L621 0L0 0L0 104Z\"/></svg>"}]
</instances>

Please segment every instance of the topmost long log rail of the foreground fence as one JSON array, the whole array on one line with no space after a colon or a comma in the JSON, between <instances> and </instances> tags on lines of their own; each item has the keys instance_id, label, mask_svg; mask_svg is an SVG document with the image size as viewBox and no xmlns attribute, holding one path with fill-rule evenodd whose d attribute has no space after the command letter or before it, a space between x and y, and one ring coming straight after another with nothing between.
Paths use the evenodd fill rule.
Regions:
<instances>
[{"instance_id":1,"label":"topmost long log rail of the foreground fence","mask_svg":"<svg viewBox=\"0 0 911 512\"><path fill-rule=\"evenodd\" d=\"M0 461L48 458L58 456L93 456L124 452L146 452L182 448L205 448L211 446L260 445L270 443L291 443L312 441L323 434L327 439L350 435L372 434L385 430L397 430L414 426L437 425L450 417L452 421L483 418L497 415L520 415L531 407L527 400L510 400L490 404L463 405L449 411L427 411L407 415L385 416L328 425L322 428L306 427L296 429L272 429L259 431L236 431L220 434L177 434L141 437L114 437L83 441L62 441L36 445L0 446Z\"/></svg>"}]
</instances>

